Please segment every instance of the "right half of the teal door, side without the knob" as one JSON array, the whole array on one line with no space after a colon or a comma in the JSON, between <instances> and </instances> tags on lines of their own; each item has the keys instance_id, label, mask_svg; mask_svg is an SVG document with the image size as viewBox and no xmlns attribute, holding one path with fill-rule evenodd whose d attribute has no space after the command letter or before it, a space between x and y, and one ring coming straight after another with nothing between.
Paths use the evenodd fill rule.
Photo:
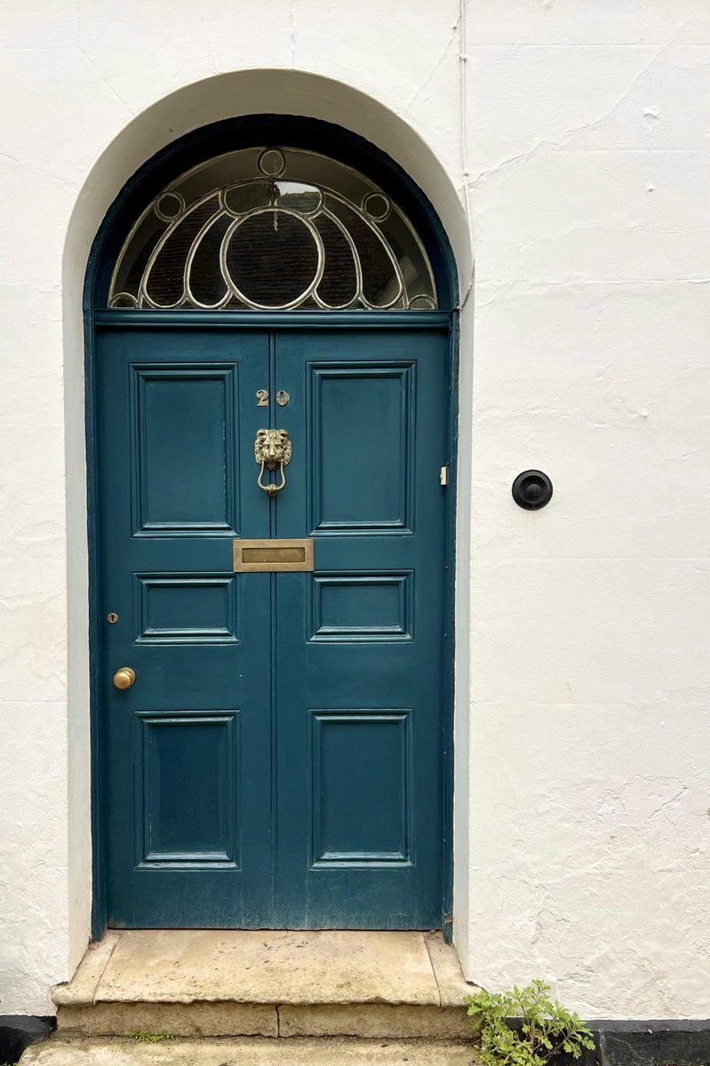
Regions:
<instances>
[{"instance_id":1,"label":"right half of the teal door, side without the knob","mask_svg":"<svg viewBox=\"0 0 710 1066\"><path fill-rule=\"evenodd\" d=\"M289 334L276 580L278 875L288 925L441 922L447 340ZM305 462L302 456L305 454Z\"/></svg>"}]
</instances>

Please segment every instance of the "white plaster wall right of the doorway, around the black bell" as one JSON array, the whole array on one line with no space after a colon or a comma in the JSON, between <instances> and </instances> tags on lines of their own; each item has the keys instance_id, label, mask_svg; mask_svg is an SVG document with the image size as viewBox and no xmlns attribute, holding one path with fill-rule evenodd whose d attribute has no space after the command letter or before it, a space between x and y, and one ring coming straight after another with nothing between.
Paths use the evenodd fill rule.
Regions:
<instances>
[{"instance_id":1,"label":"white plaster wall right of the doorway, around the black bell","mask_svg":"<svg viewBox=\"0 0 710 1066\"><path fill-rule=\"evenodd\" d=\"M710 7L488 0L467 51L469 973L707 1017Z\"/></svg>"}]
</instances>

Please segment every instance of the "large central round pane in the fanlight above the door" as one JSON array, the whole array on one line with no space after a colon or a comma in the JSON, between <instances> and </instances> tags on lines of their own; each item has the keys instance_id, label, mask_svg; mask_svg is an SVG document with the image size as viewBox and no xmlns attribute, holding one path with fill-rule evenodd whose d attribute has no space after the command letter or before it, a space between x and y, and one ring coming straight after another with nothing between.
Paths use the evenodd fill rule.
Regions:
<instances>
[{"instance_id":1,"label":"large central round pane in the fanlight above the door","mask_svg":"<svg viewBox=\"0 0 710 1066\"><path fill-rule=\"evenodd\" d=\"M224 265L236 294L259 307L291 307L320 280L317 235L297 215L269 209L251 214L228 235Z\"/></svg>"}]
</instances>

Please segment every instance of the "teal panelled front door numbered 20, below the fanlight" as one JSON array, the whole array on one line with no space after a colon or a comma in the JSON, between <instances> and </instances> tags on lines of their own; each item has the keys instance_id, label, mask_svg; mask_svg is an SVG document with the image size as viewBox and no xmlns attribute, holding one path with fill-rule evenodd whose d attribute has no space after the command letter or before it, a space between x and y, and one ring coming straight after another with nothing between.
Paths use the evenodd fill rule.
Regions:
<instances>
[{"instance_id":1,"label":"teal panelled front door numbered 20, below the fanlight","mask_svg":"<svg viewBox=\"0 0 710 1066\"><path fill-rule=\"evenodd\" d=\"M99 328L109 925L440 926L448 353L415 323ZM312 570L235 570L304 538Z\"/></svg>"}]
</instances>

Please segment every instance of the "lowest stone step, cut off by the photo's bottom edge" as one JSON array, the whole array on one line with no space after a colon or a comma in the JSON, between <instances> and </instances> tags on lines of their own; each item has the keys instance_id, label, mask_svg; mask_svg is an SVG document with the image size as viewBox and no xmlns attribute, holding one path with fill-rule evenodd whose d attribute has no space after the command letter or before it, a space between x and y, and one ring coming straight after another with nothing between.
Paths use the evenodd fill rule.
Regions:
<instances>
[{"instance_id":1,"label":"lowest stone step, cut off by the photo's bottom edge","mask_svg":"<svg viewBox=\"0 0 710 1066\"><path fill-rule=\"evenodd\" d=\"M20 1066L470 1066L470 1045L451 1040L259 1037L160 1044L55 1036L28 1048Z\"/></svg>"}]
</instances>

